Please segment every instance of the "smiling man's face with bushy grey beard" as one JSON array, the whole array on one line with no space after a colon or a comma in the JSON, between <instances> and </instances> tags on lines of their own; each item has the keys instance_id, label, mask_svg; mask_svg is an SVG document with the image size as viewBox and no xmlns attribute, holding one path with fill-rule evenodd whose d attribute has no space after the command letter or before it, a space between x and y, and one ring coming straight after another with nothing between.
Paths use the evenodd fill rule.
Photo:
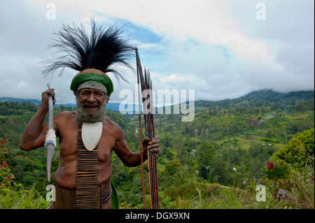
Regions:
<instances>
[{"instance_id":1,"label":"smiling man's face with bushy grey beard","mask_svg":"<svg viewBox=\"0 0 315 223\"><path fill-rule=\"evenodd\" d=\"M101 90L83 88L77 96L77 115L83 122L100 122L105 117L106 103Z\"/></svg>"}]
</instances>

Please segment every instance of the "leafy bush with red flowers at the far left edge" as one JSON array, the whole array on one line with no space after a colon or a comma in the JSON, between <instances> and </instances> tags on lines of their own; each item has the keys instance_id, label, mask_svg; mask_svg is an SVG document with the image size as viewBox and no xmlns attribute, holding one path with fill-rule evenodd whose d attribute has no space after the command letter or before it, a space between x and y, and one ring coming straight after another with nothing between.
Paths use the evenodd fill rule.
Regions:
<instances>
[{"instance_id":1,"label":"leafy bush with red flowers at the far left edge","mask_svg":"<svg viewBox=\"0 0 315 223\"><path fill-rule=\"evenodd\" d=\"M8 138L2 139L0 141L0 188L8 185L10 180L14 178L13 173L10 173L10 168L8 168L8 163L6 162L6 143L8 143Z\"/></svg>"}]
</instances>

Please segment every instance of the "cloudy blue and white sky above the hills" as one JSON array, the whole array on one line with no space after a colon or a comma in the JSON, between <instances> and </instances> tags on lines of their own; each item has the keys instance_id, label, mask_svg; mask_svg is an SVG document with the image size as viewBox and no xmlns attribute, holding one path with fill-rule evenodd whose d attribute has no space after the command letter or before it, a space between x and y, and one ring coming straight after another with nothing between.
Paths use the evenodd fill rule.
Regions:
<instances>
[{"instance_id":1,"label":"cloudy blue and white sky above the hills","mask_svg":"<svg viewBox=\"0 0 315 223\"><path fill-rule=\"evenodd\" d=\"M62 23L118 24L139 48L158 89L194 89L195 100L234 99L259 89L314 90L313 0L11 0L0 1L0 97L74 102L76 71L43 78L52 31ZM135 62L135 59L134 59ZM111 101L134 92L137 77L113 79ZM187 93L188 96L188 93ZM137 96L134 96L134 101Z\"/></svg>"}]
</instances>

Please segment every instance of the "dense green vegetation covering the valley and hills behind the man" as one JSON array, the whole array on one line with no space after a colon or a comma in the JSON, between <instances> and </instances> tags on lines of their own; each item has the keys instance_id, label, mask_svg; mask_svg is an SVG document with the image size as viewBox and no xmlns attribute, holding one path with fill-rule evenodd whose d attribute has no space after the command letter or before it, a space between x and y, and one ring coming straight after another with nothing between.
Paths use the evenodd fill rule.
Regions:
<instances>
[{"instance_id":1,"label":"dense green vegetation covering the valley and hills behind the man","mask_svg":"<svg viewBox=\"0 0 315 223\"><path fill-rule=\"evenodd\" d=\"M0 148L0 163L8 164L0 178L2 208L49 206L41 199L48 185L45 149L25 152L18 148L37 108L34 103L0 102L0 139L8 138ZM71 109L59 106L54 112ZM130 149L138 152L138 115L110 110L107 114L123 128ZM239 99L199 101L193 122L181 122L181 113L155 115L155 129L161 137L161 208L314 208L314 92L263 90ZM52 172L58 166L58 150ZM267 161L275 167L270 169ZM141 167L128 168L115 154L112 164L120 207L143 208ZM286 174L276 175L274 184L272 174L284 167ZM3 170L0 167L0 176ZM148 182L147 167L145 179ZM256 199L258 185L266 187L265 202ZM279 197L281 189L286 190L284 198ZM14 199L7 200L8 194L18 198L25 190L36 206L25 201L19 207Z\"/></svg>"}]
</instances>

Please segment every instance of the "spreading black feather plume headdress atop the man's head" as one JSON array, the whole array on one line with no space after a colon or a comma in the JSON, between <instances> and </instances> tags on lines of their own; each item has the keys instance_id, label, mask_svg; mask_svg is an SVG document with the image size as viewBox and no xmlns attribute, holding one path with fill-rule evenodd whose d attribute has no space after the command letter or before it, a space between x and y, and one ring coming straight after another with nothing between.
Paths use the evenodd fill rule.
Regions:
<instances>
[{"instance_id":1,"label":"spreading black feather plume headdress atop the man's head","mask_svg":"<svg viewBox=\"0 0 315 223\"><path fill-rule=\"evenodd\" d=\"M96 24L92 17L90 27L90 36L83 24L80 27L75 24L72 27L69 24L63 24L62 29L53 32L57 38L53 39L50 48L57 48L58 52L63 52L65 55L45 61L48 65L42 71L44 76L62 69L60 76L64 68L68 67L76 71L97 69L104 73L111 72L118 80L119 78L126 80L124 72L117 71L117 65L125 65L132 69L129 61L132 45L116 26L104 29L103 25Z\"/></svg>"}]
</instances>

